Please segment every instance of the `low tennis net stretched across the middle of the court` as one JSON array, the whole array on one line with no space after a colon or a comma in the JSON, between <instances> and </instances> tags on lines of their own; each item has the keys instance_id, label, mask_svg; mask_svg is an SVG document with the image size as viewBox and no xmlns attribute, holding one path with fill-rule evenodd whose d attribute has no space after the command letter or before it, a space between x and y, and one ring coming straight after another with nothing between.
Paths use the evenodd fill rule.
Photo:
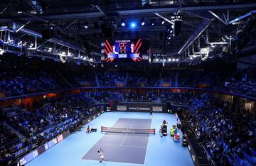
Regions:
<instances>
[{"instance_id":1,"label":"low tennis net stretched across the middle of the court","mask_svg":"<svg viewBox=\"0 0 256 166\"><path fill-rule=\"evenodd\" d=\"M155 134L155 128L115 128L115 127L101 127L102 132L107 133L139 133L139 134Z\"/></svg>"}]
</instances>

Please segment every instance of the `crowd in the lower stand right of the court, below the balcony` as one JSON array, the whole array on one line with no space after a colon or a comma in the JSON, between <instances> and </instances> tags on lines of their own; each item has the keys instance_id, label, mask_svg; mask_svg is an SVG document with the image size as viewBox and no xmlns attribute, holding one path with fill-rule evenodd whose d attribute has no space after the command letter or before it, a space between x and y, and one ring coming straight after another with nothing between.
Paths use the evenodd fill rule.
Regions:
<instances>
[{"instance_id":1,"label":"crowd in the lower stand right of the court, below the balcony","mask_svg":"<svg viewBox=\"0 0 256 166\"><path fill-rule=\"evenodd\" d=\"M183 114L190 127L188 133L193 133L218 165L225 165L227 160L255 165L256 121L252 114L239 108L228 111L229 104L218 104L209 96L200 100L197 106L191 103L196 106L194 110Z\"/></svg>"}]
</instances>

